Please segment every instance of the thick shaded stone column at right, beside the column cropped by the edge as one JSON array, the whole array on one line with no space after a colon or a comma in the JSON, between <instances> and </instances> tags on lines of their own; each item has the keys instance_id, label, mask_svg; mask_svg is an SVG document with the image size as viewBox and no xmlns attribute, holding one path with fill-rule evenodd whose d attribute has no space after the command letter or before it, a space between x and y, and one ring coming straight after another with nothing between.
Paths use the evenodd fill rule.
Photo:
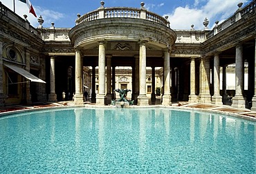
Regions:
<instances>
[{"instance_id":1,"label":"thick shaded stone column at right, beside the column cropped by the edge","mask_svg":"<svg viewBox=\"0 0 256 174\"><path fill-rule=\"evenodd\" d=\"M243 46L236 46L235 51L235 97L232 98L232 107L245 108L244 92L244 60Z\"/></svg>"}]
</instances>

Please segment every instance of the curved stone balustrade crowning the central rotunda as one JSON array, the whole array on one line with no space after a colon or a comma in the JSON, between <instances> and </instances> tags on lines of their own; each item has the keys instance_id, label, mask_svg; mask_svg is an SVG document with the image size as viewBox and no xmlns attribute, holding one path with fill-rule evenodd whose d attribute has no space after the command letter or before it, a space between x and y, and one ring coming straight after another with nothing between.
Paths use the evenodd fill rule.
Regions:
<instances>
[{"instance_id":1,"label":"curved stone balustrade crowning the central rotunda","mask_svg":"<svg viewBox=\"0 0 256 174\"><path fill-rule=\"evenodd\" d=\"M161 23L167 27L170 27L170 22L167 20L167 17L161 17L154 12L147 11L144 7L144 3L141 3L141 8L104 8L101 6L98 10L88 12L82 16L77 14L77 20L75 21L76 25L84 23L87 21L93 21L104 18L136 18L136 19L145 19L148 21L154 21L156 23Z\"/></svg>"}]
</instances>

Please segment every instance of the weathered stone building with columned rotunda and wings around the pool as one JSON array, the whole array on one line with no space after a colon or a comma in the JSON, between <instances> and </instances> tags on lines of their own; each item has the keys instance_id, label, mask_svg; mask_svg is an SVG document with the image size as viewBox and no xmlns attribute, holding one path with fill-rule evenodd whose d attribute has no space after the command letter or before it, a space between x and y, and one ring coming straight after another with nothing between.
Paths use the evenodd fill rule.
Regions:
<instances>
[{"instance_id":1,"label":"weathered stone building with columned rotunda and wings around the pool","mask_svg":"<svg viewBox=\"0 0 256 174\"><path fill-rule=\"evenodd\" d=\"M83 104L84 90L92 102L106 105L116 88L131 89L129 99L148 105L161 88L163 105L184 100L256 110L255 1L239 6L212 30L208 19L204 30L172 30L167 17L147 11L144 3L140 8L105 8L102 1L98 10L77 14L74 28L54 23L44 28L42 17L33 28L3 4L0 10L0 106L61 101L63 92L64 100ZM227 88L231 64L234 90ZM8 65L46 84L24 83L28 80Z\"/></svg>"}]
</instances>

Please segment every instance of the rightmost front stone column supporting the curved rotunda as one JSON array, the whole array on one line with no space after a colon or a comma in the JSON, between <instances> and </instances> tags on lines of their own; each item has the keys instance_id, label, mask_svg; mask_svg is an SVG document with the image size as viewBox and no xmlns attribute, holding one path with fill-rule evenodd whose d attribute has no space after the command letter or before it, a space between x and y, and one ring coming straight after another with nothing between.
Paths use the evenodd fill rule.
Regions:
<instances>
[{"instance_id":1,"label":"rightmost front stone column supporting the curved rotunda","mask_svg":"<svg viewBox=\"0 0 256 174\"><path fill-rule=\"evenodd\" d=\"M169 50L165 50L164 53L164 67L163 67L163 83L164 83L164 87L163 87L163 101L162 101L162 105L168 106L171 103L171 93L170 93L170 52Z\"/></svg>"}]
</instances>

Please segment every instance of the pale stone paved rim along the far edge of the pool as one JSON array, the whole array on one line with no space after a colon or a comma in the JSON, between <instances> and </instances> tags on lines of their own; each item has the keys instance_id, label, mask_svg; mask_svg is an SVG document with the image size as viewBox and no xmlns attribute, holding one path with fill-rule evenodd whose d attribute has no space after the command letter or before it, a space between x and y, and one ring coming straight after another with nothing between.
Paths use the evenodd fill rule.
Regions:
<instances>
[{"instance_id":1,"label":"pale stone paved rim along the far edge of the pool","mask_svg":"<svg viewBox=\"0 0 256 174\"><path fill-rule=\"evenodd\" d=\"M44 110L44 109L51 109L51 108L116 108L116 106L98 106L95 104L91 104L90 102L85 102L82 105L75 105L73 101L60 101L55 103L45 102L45 103L38 103L33 104L30 106L6 106L0 108L0 117L5 115L10 115L12 113L25 113L26 111L32 110ZM176 110L197 110L206 113L217 113L232 117L238 117L241 119L247 119L252 122L256 122L256 112L246 109L246 108L232 108L231 106L227 105L212 105L212 104L199 104L193 103L190 104L185 101L181 101L178 103L172 104L172 106L163 106L161 104L158 105L149 105L149 106L125 106L125 108L174 108Z\"/></svg>"}]
</instances>

